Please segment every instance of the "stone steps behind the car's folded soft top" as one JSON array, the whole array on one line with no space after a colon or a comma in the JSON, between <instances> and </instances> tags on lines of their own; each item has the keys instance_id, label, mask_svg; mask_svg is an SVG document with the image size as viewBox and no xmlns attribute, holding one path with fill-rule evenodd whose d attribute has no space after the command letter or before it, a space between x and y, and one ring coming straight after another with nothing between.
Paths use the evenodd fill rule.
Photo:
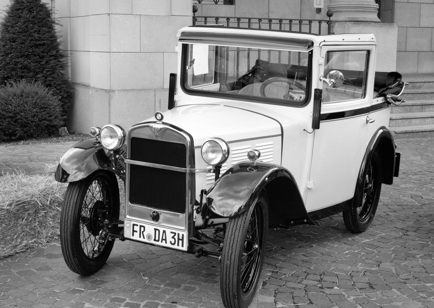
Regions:
<instances>
[{"instance_id":1,"label":"stone steps behind the car's folded soft top","mask_svg":"<svg viewBox=\"0 0 434 308\"><path fill-rule=\"evenodd\" d=\"M434 75L404 74L403 80L406 102L391 107L390 131L395 139L434 136Z\"/></svg>"}]
</instances>

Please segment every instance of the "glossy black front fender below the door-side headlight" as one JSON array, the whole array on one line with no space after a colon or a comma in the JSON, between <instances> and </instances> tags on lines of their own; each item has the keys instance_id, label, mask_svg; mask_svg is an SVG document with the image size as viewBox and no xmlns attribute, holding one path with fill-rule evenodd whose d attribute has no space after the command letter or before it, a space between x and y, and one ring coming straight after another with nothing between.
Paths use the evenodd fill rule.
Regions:
<instances>
[{"instance_id":1,"label":"glossy black front fender below the door-side headlight","mask_svg":"<svg viewBox=\"0 0 434 308\"><path fill-rule=\"evenodd\" d=\"M267 191L270 220L272 213L279 215L274 225L314 223L291 172L266 162L239 162L232 166L208 190L207 206L221 217L235 217L254 204L262 189Z\"/></svg>"}]
</instances>

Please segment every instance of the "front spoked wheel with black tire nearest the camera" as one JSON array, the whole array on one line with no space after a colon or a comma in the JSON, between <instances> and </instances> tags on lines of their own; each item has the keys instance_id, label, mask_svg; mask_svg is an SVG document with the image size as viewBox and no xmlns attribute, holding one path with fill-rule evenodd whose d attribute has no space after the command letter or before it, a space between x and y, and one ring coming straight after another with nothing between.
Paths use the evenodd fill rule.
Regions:
<instances>
[{"instance_id":1,"label":"front spoked wheel with black tire nearest the camera","mask_svg":"<svg viewBox=\"0 0 434 308\"><path fill-rule=\"evenodd\" d=\"M221 298L226 308L247 308L253 300L262 271L267 233L268 201L262 193L254 206L230 218L227 224L220 267Z\"/></svg>"}]
</instances>

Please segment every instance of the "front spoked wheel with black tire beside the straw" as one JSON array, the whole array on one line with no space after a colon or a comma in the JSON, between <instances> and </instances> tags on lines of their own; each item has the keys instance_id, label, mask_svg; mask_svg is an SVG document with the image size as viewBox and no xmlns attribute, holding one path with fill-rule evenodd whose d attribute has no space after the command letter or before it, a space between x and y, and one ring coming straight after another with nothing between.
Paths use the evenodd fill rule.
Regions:
<instances>
[{"instance_id":1,"label":"front spoked wheel with black tire beside the straw","mask_svg":"<svg viewBox=\"0 0 434 308\"><path fill-rule=\"evenodd\" d=\"M96 171L66 190L60 215L60 244L66 265L80 275L92 275L105 264L114 240L99 240L105 219L119 218L116 176Z\"/></svg>"}]
</instances>

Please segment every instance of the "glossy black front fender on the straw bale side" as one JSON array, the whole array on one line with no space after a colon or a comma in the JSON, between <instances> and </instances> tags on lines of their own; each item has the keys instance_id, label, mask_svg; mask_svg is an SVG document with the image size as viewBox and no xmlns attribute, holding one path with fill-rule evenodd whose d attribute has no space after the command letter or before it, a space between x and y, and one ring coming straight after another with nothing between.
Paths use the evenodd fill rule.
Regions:
<instances>
[{"instance_id":1,"label":"glossy black front fender on the straw bale side","mask_svg":"<svg viewBox=\"0 0 434 308\"><path fill-rule=\"evenodd\" d=\"M76 182L89 176L96 170L108 170L113 173L111 153L104 149L95 138L83 140L69 149L60 159L54 178L57 182Z\"/></svg>"}]
</instances>

